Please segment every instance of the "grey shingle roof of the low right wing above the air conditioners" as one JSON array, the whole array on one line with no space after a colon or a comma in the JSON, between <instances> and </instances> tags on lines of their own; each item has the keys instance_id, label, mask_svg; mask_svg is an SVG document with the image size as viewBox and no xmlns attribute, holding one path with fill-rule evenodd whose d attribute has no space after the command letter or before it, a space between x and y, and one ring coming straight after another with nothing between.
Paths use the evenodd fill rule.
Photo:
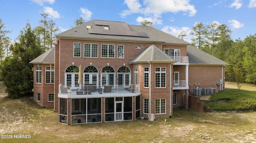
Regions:
<instances>
[{"instance_id":1,"label":"grey shingle roof of the low right wing above the air conditioners","mask_svg":"<svg viewBox=\"0 0 256 143\"><path fill-rule=\"evenodd\" d=\"M189 65L229 65L192 45L187 46L187 56Z\"/></svg>"}]
</instances>

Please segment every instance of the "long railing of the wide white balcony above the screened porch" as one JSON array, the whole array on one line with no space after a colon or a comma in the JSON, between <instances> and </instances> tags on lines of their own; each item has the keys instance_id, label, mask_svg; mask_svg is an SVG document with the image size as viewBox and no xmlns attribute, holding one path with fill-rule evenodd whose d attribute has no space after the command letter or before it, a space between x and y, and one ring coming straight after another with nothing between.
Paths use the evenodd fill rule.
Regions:
<instances>
[{"instance_id":1,"label":"long railing of the wide white balcony above the screened porch","mask_svg":"<svg viewBox=\"0 0 256 143\"><path fill-rule=\"evenodd\" d=\"M139 92L140 84L131 85L94 85L66 86L59 85L59 94L112 94L112 93L131 93Z\"/></svg>"}]
</instances>

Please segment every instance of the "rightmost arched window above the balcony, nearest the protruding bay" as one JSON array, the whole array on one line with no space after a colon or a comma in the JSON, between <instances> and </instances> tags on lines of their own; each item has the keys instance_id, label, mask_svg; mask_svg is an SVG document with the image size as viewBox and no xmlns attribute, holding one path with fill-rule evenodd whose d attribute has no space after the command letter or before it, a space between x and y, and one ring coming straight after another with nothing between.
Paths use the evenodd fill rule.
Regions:
<instances>
[{"instance_id":1,"label":"rightmost arched window above the balcony, nearest the protruding bay","mask_svg":"<svg viewBox=\"0 0 256 143\"><path fill-rule=\"evenodd\" d=\"M131 70L122 66L117 71L118 85L129 86L131 84Z\"/></svg>"}]
</instances>

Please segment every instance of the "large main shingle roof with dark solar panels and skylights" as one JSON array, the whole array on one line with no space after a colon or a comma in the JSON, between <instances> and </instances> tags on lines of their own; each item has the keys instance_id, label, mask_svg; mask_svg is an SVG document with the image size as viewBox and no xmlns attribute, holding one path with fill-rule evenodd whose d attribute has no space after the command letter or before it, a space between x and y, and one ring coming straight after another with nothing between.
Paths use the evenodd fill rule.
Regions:
<instances>
[{"instance_id":1,"label":"large main shingle roof with dark solar panels and skylights","mask_svg":"<svg viewBox=\"0 0 256 143\"><path fill-rule=\"evenodd\" d=\"M106 26L109 26L110 29L104 29ZM91 20L59 33L56 37L190 45L190 43L182 39L151 26L129 25L125 22L105 20Z\"/></svg>"}]
</instances>

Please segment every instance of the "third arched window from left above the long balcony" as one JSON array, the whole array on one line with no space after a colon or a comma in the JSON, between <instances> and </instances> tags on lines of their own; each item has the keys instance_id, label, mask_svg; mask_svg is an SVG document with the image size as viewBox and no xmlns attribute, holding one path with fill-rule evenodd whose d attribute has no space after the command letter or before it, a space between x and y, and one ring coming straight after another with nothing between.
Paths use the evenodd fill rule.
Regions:
<instances>
[{"instance_id":1,"label":"third arched window from left above the long balcony","mask_svg":"<svg viewBox=\"0 0 256 143\"><path fill-rule=\"evenodd\" d=\"M105 66L100 72L101 85L114 85L115 84L115 70L110 66Z\"/></svg>"}]
</instances>

